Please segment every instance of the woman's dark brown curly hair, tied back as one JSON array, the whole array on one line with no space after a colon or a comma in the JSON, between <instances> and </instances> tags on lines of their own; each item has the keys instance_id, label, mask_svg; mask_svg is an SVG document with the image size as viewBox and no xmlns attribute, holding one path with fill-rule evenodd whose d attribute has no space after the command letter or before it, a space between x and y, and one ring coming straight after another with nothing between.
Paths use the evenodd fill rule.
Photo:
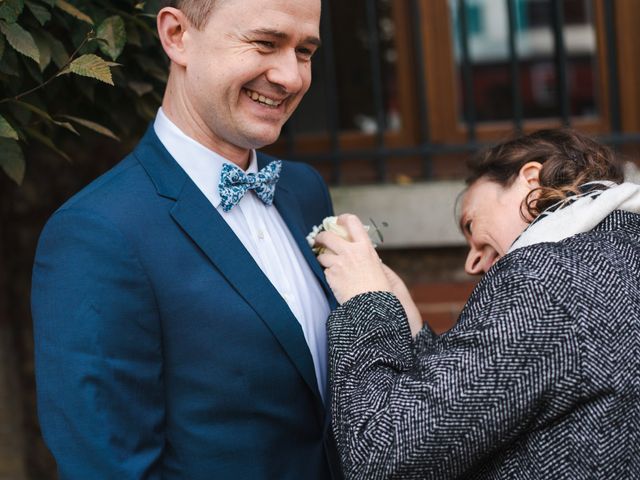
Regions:
<instances>
[{"instance_id":1,"label":"woman's dark brown curly hair, tied back","mask_svg":"<svg viewBox=\"0 0 640 480\"><path fill-rule=\"evenodd\" d=\"M571 129L539 130L500 143L472 157L467 186L481 178L510 186L528 162L542 164L540 186L524 200L522 209L533 220L578 187L594 180L624 181L622 160L592 138Z\"/></svg>"}]
</instances>

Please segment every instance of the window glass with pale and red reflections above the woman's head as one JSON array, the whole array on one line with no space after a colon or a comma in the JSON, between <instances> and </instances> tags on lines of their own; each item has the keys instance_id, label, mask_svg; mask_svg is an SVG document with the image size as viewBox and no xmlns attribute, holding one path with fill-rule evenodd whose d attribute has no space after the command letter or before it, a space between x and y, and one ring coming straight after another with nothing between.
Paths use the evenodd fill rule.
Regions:
<instances>
[{"instance_id":1,"label":"window glass with pale and red reflections above the woman's head","mask_svg":"<svg viewBox=\"0 0 640 480\"><path fill-rule=\"evenodd\" d=\"M453 19L456 68L458 70L458 115L465 116L473 101L476 120L508 120L516 115L513 88L517 87L523 118L561 117L562 101L558 89L559 65L556 61L554 11L551 0L513 2L514 50L510 51L508 2L495 0L449 0ZM464 5L464 12L461 8ZM562 5L562 37L566 50L564 72L567 84L568 114L573 117L597 115L601 109L598 78L599 58L592 0L569 0ZM482 28L471 27L471 19L482 12L489 19ZM467 34L462 35L460 13L467 17ZM468 61L472 98L464 92L463 47L468 42ZM511 58L511 56L515 58ZM514 65L512 65L512 60ZM516 75L514 78L514 71ZM518 82L513 85L512 82ZM468 119L466 119L468 120Z\"/></svg>"}]
</instances>

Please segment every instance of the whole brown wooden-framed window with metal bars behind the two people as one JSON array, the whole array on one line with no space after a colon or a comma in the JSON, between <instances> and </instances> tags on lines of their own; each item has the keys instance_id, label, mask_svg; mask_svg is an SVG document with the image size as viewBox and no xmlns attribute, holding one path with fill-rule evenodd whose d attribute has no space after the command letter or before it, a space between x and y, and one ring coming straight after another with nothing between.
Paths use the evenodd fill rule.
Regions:
<instances>
[{"instance_id":1,"label":"whole brown wooden-framed window with metal bars behind the two people","mask_svg":"<svg viewBox=\"0 0 640 480\"><path fill-rule=\"evenodd\" d=\"M638 24L637 0L323 0L314 83L269 150L377 183L460 176L515 130L640 143Z\"/></svg>"}]
</instances>

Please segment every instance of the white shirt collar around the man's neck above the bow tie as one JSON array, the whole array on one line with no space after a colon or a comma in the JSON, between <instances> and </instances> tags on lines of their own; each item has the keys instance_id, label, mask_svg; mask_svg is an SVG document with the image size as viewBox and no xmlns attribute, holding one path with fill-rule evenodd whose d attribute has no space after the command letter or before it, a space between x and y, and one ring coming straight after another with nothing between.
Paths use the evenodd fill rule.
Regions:
<instances>
[{"instance_id":1,"label":"white shirt collar around the man's neck above the bow tie","mask_svg":"<svg viewBox=\"0 0 640 480\"><path fill-rule=\"evenodd\" d=\"M220 205L218 183L222 165L225 163L234 165L234 163L187 136L167 117L162 107L158 109L153 128L160 142L178 165L182 167L211 204L218 208ZM256 151L252 149L246 172L256 173L257 171Z\"/></svg>"}]
</instances>

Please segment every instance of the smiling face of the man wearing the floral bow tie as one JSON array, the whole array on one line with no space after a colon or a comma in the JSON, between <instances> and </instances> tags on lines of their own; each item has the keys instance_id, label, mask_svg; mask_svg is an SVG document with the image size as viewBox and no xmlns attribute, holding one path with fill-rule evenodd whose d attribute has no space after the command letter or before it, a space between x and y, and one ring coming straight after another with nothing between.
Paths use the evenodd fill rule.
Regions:
<instances>
[{"instance_id":1,"label":"smiling face of the man wearing the floral bow tie","mask_svg":"<svg viewBox=\"0 0 640 480\"><path fill-rule=\"evenodd\" d=\"M275 142L311 84L320 0L225 0L184 42L189 109L223 150Z\"/></svg>"}]
</instances>

